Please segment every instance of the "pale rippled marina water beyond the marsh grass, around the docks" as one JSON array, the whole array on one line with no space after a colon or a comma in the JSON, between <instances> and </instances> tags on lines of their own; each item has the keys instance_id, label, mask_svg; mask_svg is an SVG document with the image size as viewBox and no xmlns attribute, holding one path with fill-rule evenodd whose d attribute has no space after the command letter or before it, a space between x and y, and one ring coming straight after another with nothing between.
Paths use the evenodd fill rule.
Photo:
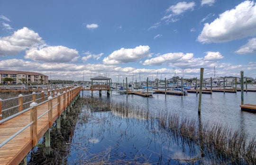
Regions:
<instances>
[{"instance_id":1,"label":"pale rippled marina water beyond the marsh grass, around the docks","mask_svg":"<svg viewBox=\"0 0 256 165\"><path fill-rule=\"evenodd\" d=\"M98 94L97 92L93 93ZM103 93L104 94L104 93ZM91 96L85 92L84 95ZM106 97L106 94L102 96ZM198 99L199 94L189 93L188 96L175 96L164 94L153 94L152 98L144 98L137 95L120 95L112 92L111 100L126 101L129 104L142 106L152 111L171 112L179 116L198 118ZM256 114L241 111L241 92L225 93L213 92L202 94L201 119L204 122L221 123L234 130L240 129L249 134L250 137L256 136ZM244 92L244 104L256 104L256 92Z\"/></svg>"}]
</instances>

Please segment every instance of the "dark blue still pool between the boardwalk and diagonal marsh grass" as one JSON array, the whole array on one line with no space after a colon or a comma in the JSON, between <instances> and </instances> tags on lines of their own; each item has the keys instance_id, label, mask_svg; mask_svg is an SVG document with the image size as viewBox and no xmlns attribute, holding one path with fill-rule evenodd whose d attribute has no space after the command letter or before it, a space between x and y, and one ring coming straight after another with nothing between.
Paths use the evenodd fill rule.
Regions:
<instances>
[{"instance_id":1,"label":"dark blue still pool between the boardwalk and diagonal marsh grass","mask_svg":"<svg viewBox=\"0 0 256 165\"><path fill-rule=\"evenodd\" d=\"M164 134L164 136L163 136ZM195 157L194 148L159 127L159 121L124 117L119 113L90 113L87 123L78 122L68 164L104 160L172 164Z\"/></svg>"}]
</instances>

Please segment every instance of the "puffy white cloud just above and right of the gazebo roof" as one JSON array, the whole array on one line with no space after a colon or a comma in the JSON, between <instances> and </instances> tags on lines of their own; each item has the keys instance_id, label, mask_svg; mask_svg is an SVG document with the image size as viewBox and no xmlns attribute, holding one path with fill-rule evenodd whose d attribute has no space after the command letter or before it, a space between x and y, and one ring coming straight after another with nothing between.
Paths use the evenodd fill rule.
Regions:
<instances>
[{"instance_id":1,"label":"puffy white cloud just above and right of the gazebo roof","mask_svg":"<svg viewBox=\"0 0 256 165\"><path fill-rule=\"evenodd\" d=\"M134 49L121 48L113 51L108 57L103 59L105 65L117 65L120 63L135 62L139 59L148 57L149 46L137 46Z\"/></svg>"}]
</instances>

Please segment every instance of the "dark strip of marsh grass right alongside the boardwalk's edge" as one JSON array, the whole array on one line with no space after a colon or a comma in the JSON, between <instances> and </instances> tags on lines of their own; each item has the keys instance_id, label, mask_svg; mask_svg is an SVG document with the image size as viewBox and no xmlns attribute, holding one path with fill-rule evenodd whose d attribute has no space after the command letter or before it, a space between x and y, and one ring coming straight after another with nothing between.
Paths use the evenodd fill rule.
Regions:
<instances>
[{"instance_id":1,"label":"dark strip of marsh grass right alongside the boardwalk's edge","mask_svg":"<svg viewBox=\"0 0 256 165\"><path fill-rule=\"evenodd\" d=\"M56 123L50 128L50 154L47 154L45 148L45 140L42 144L37 145L37 150L30 153L28 165L65 165L72 142L74 127L77 117L82 109L81 99L78 99L70 113L66 115L66 119L61 117L61 132L58 132ZM85 118L83 118L85 119Z\"/></svg>"}]
</instances>

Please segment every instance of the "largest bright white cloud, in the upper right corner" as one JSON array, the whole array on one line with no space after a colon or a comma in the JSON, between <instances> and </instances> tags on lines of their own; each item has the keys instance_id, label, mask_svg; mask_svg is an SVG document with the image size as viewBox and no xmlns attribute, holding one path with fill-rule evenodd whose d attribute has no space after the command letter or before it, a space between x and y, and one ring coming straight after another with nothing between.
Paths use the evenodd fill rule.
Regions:
<instances>
[{"instance_id":1,"label":"largest bright white cloud, in the upper right corner","mask_svg":"<svg viewBox=\"0 0 256 165\"><path fill-rule=\"evenodd\" d=\"M246 0L236 8L219 15L212 23L204 24L197 40L202 43L232 41L256 34L256 6Z\"/></svg>"}]
</instances>

